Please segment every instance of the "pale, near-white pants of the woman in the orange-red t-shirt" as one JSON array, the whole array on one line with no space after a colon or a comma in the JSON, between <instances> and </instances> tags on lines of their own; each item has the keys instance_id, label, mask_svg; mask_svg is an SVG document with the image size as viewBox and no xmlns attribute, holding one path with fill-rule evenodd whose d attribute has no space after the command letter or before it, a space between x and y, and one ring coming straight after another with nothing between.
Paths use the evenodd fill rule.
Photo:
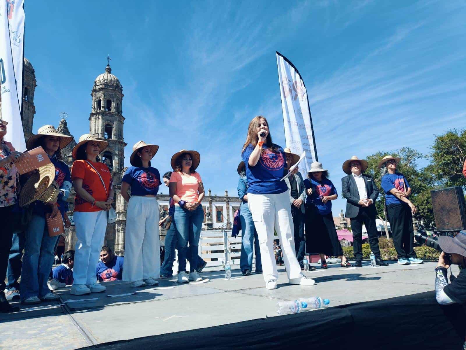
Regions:
<instances>
[{"instance_id":1,"label":"pale, near-white pants of the woman in the orange-red t-shirt","mask_svg":"<svg viewBox=\"0 0 466 350\"><path fill-rule=\"evenodd\" d=\"M73 284L96 283L96 266L100 248L107 230L107 212L104 210L73 213L76 237Z\"/></svg>"}]
</instances>

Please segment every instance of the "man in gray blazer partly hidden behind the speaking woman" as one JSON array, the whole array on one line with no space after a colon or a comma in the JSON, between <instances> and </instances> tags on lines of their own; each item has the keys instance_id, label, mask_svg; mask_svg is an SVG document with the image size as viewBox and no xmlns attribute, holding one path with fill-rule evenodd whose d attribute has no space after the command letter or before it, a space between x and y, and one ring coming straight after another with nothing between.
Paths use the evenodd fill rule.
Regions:
<instances>
[{"instance_id":1,"label":"man in gray blazer partly hidden behind the speaking woman","mask_svg":"<svg viewBox=\"0 0 466 350\"><path fill-rule=\"evenodd\" d=\"M289 169L299 161L299 155L291 153L289 148L285 148L285 156L287 159L287 168ZM293 216L293 225L295 227L295 252L299 265L303 269L302 260L306 248L306 240L304 239L304 200L306 199L306 188L302 181L302 175L297 171L297 167L292 175L285 179L288 185L288 195L290 197L291 215Z\"/></svg>"}]
</instances>

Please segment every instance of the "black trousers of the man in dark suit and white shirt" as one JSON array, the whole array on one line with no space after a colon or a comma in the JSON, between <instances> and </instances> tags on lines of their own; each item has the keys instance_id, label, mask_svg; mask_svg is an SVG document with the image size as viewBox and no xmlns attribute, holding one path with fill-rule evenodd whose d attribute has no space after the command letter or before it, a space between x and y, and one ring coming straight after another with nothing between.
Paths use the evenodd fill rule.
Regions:
<instances>
[{"instance_id":1,"label":"black trousers of the man in dark suit and white shirt","mask_svg":"<svg viewBox=\"0 0 466 350\"><path fill-rule=\"evenodd\" d=\"M367 235L369 236L370 250L376 258L380 258L376 217L369 214L369 208L359 208L357 216L351 218L354 257L356 260L363 259L363 224L366 226Z\"/></svg>"}]
</instances>

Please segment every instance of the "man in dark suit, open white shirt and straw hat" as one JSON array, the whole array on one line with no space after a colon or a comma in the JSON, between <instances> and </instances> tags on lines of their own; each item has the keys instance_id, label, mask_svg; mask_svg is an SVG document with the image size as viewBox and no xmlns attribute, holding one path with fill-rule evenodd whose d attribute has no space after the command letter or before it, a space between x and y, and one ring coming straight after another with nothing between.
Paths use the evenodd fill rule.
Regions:
<instances>
[{"instance_id":1,"label":"man in dark suit, open white shirt and straw hat","mask_svg":"<svg viewBox=\"0 0 466 350\"><path fill-rule=\"evenodd\" d=\"M378 266L388 266L380 258L380 249L378 246L377 210L374 204L378 196L378 189L372 181L372 177L363 174L367 167L367 161L358 159L355 155L343 163L343 171L348 176L342 178L342 196L346 198L345 217L351 218L353 252L356 259L354 266L362 266L363 224L366 226L369 236L370 250L376 256L376 264Z\"/></svg>"}]
</instances>

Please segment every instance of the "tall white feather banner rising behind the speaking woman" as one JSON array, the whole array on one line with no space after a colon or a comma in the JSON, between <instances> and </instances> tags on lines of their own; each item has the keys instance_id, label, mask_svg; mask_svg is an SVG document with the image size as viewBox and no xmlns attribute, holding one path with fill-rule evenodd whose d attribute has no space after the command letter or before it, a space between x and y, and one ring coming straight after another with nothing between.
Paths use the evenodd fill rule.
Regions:
<instances>
[{"instance_id":1,"label":"tall white feather banner rising behind the speaking woman","mask_svg":"<svg viewBox=\"0 0 466 350\"><path fill-rule=\"evenodd\" d=\"M292 153L306 153L300 168L307 172L317 161L308 92L293 63L279 52L276 55L286 144Z\"/></svg>"}]
</instances>

